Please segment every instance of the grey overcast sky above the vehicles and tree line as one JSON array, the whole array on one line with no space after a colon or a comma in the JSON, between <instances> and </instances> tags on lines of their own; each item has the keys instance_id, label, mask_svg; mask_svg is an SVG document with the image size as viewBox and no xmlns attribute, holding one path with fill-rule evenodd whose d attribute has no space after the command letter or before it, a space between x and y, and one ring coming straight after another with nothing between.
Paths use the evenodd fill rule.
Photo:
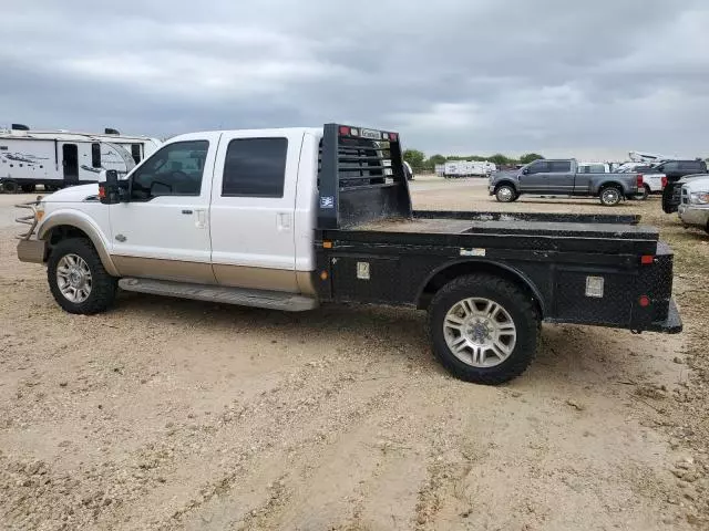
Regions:
<instances>
[{"instance_id":1,"label":"grey overcast sky above the vehicles and tree line","mask_svg":"<svg viewBox=\"0 0 709 531\"><path fill-rule=\"evenodd\" d=\"M0 125L351 123L431 155L709 156L709 1L32 0Z\"/></svg>"}]
</instances>

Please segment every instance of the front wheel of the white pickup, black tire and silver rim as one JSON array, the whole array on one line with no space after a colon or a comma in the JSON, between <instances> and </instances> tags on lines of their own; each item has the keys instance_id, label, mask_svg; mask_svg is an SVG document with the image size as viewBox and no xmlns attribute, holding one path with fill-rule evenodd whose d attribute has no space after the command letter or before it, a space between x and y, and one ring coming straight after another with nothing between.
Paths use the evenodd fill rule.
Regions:
<instances>
[{"instance_id":1,"label":"front wheel of the white pickup, black tire and silver rim","mask_svg":"<svg viewBox=\"0 0 709 531\"><path fill-rule=\"evenodd\" d=\"M83 238L60 241L47 266L52 295L66 312L91 315L113 304L117 279L103 268L91 241Z\"/></svg>"}]
</instances>

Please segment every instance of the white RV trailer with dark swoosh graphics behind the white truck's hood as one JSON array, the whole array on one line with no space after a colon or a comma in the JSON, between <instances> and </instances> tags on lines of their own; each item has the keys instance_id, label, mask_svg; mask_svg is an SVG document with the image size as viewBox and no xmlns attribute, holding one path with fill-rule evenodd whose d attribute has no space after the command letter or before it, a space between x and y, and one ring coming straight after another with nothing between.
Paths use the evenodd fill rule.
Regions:
<instances>
[{"instance_id":1,"label":"white RV trailer with dark swoosh graphics behind the white truck's hood","mask_svg":"<svg viewBox=\"0 0 709 531\"><path fill-rule=\"evenodd\" d=\"M68 131L30 131L21 124L0 129L0 189L7 192L45 190L97 183L102 169L126 174L152 155L160 140L125 136L115 129L103 134Z\"/></svg>"}]
</instances>

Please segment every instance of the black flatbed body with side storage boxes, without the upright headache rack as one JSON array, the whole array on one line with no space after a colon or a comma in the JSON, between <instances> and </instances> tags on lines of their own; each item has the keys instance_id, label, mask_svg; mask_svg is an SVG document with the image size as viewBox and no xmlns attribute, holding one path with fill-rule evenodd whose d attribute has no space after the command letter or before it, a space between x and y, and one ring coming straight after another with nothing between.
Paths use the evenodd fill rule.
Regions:
<instances>
[{"instance_id":1,"label":"black flatbed body with side storage boxes, without the upright headache rack","mask_svg":"<svg viewBox=\"0 0 709 531\"><path fill-rule=\"evenodd\" d=\"M649 330L667 316L671 251L635 217L420 214L321 231L330 299L425 308L438 272L473 263L530 285L548 322Z\"/></svg>"}]
</instances>

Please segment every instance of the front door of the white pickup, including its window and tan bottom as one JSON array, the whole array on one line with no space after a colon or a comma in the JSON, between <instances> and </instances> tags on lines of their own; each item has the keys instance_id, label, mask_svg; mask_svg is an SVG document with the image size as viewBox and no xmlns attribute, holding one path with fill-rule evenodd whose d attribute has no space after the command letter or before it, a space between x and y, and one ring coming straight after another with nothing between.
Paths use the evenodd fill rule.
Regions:
<instances>
[{"instance_id":1,"label":"front door of the white pickup, including its window and tan bottom","mask_svg":"<svg viewBox=\"0 0 709 531\"><path fill-rule=\"evenodd\" d=\"M219 137L183 136L129 175L130 201L110 207L111 253L122 277L216 282L208 214Z\"/></svg>"}]
</instances>

